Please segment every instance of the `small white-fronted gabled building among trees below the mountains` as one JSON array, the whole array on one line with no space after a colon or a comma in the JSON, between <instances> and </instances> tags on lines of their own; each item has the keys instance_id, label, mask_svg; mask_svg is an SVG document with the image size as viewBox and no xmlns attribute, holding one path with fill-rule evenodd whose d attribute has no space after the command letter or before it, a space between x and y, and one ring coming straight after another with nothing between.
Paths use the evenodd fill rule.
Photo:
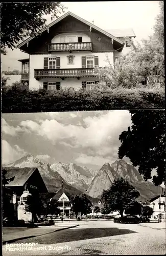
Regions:
<instances>
[{"instance_id":1,"label":"small white-fronted gabled building among trees below the mountains","mask_svg":"<svg viewBox=\"0 0 166 256\"><path fill-rule=\"evenodd\" d=\"M57 194L51 199L51 203L57 204L57 208L60 210L60 215L64 217L70 216L72 209L72 196L65 188L61 188Z\"/></svg>"}]
</instances>

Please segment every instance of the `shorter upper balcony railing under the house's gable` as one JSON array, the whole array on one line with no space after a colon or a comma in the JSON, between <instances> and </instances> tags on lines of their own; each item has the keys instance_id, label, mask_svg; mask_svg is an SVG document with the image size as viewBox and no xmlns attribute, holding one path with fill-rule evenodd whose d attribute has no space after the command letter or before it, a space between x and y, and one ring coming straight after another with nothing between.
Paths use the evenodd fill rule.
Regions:
<instances>
[{"instance_id":1,"label":"shorter upper balcony railing under the house's gable","mask_svg":"<svg viewBox=\"0 0 166 256\"><path fill-rule=\"evenodd\" d=\"M49 52L60 51L91 51L92 42L63 42L60 44L49 44Z\"/></svg>"}]
</instances>

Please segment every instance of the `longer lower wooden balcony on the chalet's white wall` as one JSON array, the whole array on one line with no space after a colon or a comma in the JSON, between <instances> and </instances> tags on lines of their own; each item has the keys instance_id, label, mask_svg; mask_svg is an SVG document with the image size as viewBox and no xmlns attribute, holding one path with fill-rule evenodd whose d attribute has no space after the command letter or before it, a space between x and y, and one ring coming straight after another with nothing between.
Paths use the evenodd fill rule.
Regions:
<instances>
[{"instance_id":1,"label":"longer lower wooden balcony on the chalet's white wall","mask_svg":"<svg viewBox=\"0 0 166 256\"><path fill-rule=\"evenodd\" d=\"M85 69L35 69L34 77L39 78L63 78L63 77L95 77L94 68Z\"/></svg>"}]
</instances>

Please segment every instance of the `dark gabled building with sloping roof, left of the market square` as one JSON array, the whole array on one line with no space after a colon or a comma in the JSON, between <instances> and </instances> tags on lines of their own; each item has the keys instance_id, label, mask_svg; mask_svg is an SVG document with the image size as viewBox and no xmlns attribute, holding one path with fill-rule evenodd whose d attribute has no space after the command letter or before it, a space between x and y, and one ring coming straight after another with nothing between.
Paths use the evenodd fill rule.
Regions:
<instances>
[{"instance_id":1,"label":"dark gabled building with sloping roof, left of the market square","mask_svg":"<svg viewBox=\"0 0 166 256\"><path fill-rule=\"evenodd\" d=\"M37 167L5 167L8 184L5 188L12 191L11 202L14 205L14 215L17 216L17 207L20 197L25 190L29 190L33 197L39 193L48 193L48 189Z\"/></svg>"}]
</instances>

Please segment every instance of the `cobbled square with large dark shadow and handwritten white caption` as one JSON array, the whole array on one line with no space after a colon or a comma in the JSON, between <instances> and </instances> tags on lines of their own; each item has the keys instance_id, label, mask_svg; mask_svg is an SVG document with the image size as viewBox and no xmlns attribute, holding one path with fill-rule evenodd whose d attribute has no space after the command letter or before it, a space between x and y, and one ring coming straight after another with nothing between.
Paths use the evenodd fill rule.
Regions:
<instances>
[{"instance_id":1,"label":"cobbled square with large dark shadow and handwritten white caption","mask_svg":"<svg viewBox=\"0 0 166 256\"><path fill-rule=\"evenodd\" d=\"M162 228L158 228L157 223L120 224L109 220L80 221L79 224L80 226L75 228L19 240L10 246L4 245L3 255L117 255L166 252L164 224Z\"/></svg>"}]
</instances>

